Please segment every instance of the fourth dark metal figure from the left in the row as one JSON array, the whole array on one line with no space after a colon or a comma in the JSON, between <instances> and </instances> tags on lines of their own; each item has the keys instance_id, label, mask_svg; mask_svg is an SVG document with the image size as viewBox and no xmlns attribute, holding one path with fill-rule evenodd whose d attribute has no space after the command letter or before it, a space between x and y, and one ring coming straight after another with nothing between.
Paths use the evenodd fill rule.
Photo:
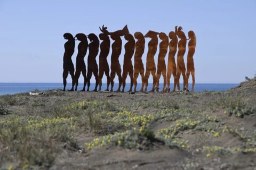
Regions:
<instances>
[{"instance_id":1,"label":"fourth dark metal figure from the left in the row","mask_svg":"<svg viewBox=\"0 0 256 170\"><path fill-rule=\"evenodd\" d=\"M108 61L107 57L109 54L109 49L110 49L110 40L108 35L105 33L100 33L99 35L100 40L103 40L102 43L100 44L100 57L99 57L99 91L101 90L101 85L102 85L102 77L105 72L105 75L107 76L107 89L106 91L109 91L109 84L110 84L110 77L109 77L109 66L108 66Z\"/></svg>"}]
</instances>

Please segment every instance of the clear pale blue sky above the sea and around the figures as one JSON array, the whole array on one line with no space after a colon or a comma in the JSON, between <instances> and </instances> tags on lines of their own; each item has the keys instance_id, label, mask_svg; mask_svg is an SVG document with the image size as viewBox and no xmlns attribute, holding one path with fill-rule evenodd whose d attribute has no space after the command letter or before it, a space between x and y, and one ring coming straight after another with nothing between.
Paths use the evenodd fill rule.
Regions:
<instances>
[{"instance_id":1,"label":"clear pale blue sky above the sea and around the figures","mask_svg":"<svg viewBox=\"0 0 256 170\"><path fill-rule=\"evenodd\" d=\"M239 83L245 76L256 74L255 17L255 0L0 0L0 82L62 82L63 45L66 42L63 33L99 35L102 24L109 31L122 29L127 24L132 34L135 31L145 34L148 30L167 34L175 25L181 25L186 35L189 30L194 30L197 37L196 82ZM126 41L122 40L124 46ZM146 47L148 41L146 39ZM72 57L74 64L77 45L78 42ZM111 51L109 61L110 55ZM142 56L144 66L146 55L147 48ZM156 63L157 55L158 52ZM119 57L122 66L123 56L124 48ZM167 61L167 56L165 59ZM79 81L83 82L82 77ZM102 82L105 81L106 77L103 77ZM68 82L71 82L70 75ZM149 82L152 82L151 77Z\"/></svg>"}]
</instances>

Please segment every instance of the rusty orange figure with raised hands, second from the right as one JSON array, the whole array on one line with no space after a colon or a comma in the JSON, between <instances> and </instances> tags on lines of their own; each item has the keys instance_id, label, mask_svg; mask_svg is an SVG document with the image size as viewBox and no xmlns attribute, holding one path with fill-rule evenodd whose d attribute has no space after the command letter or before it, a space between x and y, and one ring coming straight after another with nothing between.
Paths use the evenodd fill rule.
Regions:
<instances>
[{"instance_id":1,"label":"rusty orange figure with raised hands, second from the right","mask_svg":"<svg viewBox=\"0 0 256 170\"><path fill-rule=\"evenodd\" d=\"M177 87L178 90L180 90L180 74L182 74L183 77L183 90L186 89L186 67L184 63L184 54L186 52L186 44L187 44L187 38L185 33L182 31L182 27L179 27L177 30L177 27L175 27L175 33L180 38L180 41L178 43L178 55L177 55ZM175 88L174 88L175 89Z\"/></svg>"}]
</instances>

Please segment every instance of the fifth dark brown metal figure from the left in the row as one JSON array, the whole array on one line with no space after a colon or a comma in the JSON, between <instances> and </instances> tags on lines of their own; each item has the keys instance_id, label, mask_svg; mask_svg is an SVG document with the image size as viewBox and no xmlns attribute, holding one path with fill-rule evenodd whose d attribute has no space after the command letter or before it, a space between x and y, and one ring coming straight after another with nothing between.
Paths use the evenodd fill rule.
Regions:
<instances>
[{"instance_id":1,"label":"fifth dark brown metal figure from the left in the row","mask_svg":"<svg viewBox=\"0 0 256 170\"><path fill-rule=\"evenodd\" d=\"M112 44L112 54L111 54L111 73L110 73L110 82L111 82L111 90L113 91L114 87L114 79L117 74L118 81L119 81L119 87L117 89L117 92L120 92L120 88L122 86L122 75L121 75L121 65L119 63L119 56L122 51L122 40L120 36L115 33L111 33L111 39L114 40L114 43Z\"/></svg>"}]
</instances>

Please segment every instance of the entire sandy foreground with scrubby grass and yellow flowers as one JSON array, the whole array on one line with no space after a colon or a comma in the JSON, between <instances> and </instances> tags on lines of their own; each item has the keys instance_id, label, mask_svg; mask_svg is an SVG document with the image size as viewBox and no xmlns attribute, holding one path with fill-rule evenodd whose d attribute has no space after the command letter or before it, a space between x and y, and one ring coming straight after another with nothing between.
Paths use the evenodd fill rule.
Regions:
<instances>
[{"instance_id":1,"label":"entire sandy foreground with scrubby grass and yellow flowers","mask_svg":"<svg viewBox=\"0 0 256 170\"><path fill-rule=\"evenodd\" d=\"M255 113L255 78L226 92L4 95L0 169L253 169Z\"/></svg>"}]
</instances>

